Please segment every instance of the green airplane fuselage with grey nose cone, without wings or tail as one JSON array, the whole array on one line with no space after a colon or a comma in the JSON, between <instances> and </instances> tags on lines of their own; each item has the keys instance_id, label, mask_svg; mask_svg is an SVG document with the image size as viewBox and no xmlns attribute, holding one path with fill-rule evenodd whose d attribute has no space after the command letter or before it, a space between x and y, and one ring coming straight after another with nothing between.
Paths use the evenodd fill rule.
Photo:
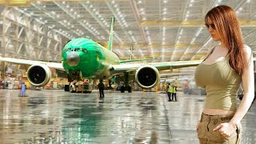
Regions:
<instances>
[{"instance_id":1,"label":"green airplane fuselage with grey nose cone, without wings or tail","mask_svg":"<svg viewBox=\"0 0 256 144\"><path fill-rule=\"evenodd\" d=\"M120 64L116 54L89 38L75 38L62 49L62 66L67 74L79 72L82 78L111 77L110 66Z\"/></svg>"}]
</instances>

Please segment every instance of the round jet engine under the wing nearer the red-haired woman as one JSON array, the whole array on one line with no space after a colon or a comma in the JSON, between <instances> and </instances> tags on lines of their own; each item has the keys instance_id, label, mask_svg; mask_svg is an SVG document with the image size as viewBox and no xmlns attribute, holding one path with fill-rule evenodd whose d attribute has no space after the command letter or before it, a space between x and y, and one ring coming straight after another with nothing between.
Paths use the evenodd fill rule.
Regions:
<instances>
[{"instance_id":1,"label":"round jet engine under the wing nearer the red-haired woman","mask_svg":"<svg viewBox=\"0 0 256 144\"><path fill-rule=\"evenodd\" d=\"M135 74L135 81L143 89L150 89L160 81L158 69L154 66L141 66Z\"/></svg>"}]
</instances>

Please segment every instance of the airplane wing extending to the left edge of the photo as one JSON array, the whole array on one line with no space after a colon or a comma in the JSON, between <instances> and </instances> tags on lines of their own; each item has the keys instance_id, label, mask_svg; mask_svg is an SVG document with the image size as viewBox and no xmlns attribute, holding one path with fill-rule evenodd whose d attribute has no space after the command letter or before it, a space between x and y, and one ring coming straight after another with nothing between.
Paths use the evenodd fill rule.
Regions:
<instances>
[{"instance_id":1,"label":"airplane wing extending to the left edge of the photo","mask_svg":"<svg viewBox=\"0 0 256 144\"><path fill-rule=\"evenodd\" d=\"M55 68L58 70L64 70L62 63L57 62L42 62L42 61L32 61L26 59L18 59L18 58L2 58L0 57L1 62L11 62L16 64L24 64L24 65L34 65L34 64L44 64L48 67Z\"/></svg>"}]
</instances>

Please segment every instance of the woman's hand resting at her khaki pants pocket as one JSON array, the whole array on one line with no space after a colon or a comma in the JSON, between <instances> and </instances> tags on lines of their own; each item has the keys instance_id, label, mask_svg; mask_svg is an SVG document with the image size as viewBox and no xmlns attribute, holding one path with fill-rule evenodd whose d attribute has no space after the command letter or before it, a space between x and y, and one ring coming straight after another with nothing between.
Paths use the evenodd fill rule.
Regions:
<instances>
[{"instance_id":1,"label":"woman's hand resting at her khaki pants pocket","mask_svg":"<svg viewBox=\"0 0 256 144\"><path fill-rule=\"evenodd\" d=\"M223 137L229 138L232 133L234 133L234 130L237 130L237 126L230 122L222 123L214 128L214 131L219 131L220 134L222 134Z\"/></svg>"}]
</instances>

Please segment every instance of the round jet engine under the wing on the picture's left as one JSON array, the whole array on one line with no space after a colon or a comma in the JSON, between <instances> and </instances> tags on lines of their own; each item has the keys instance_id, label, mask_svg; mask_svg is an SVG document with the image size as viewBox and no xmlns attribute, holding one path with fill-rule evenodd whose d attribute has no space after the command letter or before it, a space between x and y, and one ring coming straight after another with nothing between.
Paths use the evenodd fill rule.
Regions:
<instances>
[{"instance_id":1,"label":"round jet engine under the wing on the picture's left","mask_svg":"<svg viewBox=\"0 0 256 144\"><path fill-rule=\"evenodd\" d=\"M46 65L35 64L27 70L27 79L34 86L46 86L50 78L50 68Z\"/></svg>"}]
</instances>

